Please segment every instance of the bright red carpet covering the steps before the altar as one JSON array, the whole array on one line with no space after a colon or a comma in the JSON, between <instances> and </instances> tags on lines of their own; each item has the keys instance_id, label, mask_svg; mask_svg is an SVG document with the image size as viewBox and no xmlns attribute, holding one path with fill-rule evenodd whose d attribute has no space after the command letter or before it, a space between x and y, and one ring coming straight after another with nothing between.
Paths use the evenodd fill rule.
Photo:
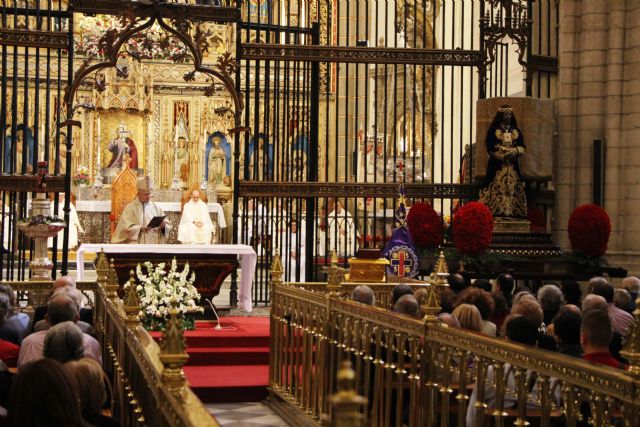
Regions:
<instances>
[{"instance_id":1,"label":"bright red carpet covering the steps before the altar","mask_svg":"<svg viewBox=\"0 0 640 427\"><path fill-rule=\"evenodd\" d=\"M204 403L259 402L267 396L269 318L223 317L187 331L187 381ZM152 332L158 339L162 335Z\"/></svg>"}]
</instances>

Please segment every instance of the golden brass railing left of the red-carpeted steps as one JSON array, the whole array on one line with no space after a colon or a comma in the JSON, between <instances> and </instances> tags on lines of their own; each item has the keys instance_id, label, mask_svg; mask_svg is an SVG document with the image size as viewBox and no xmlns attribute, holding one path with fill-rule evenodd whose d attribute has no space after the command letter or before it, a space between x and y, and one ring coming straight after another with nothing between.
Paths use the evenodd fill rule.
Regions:
<instances>
[{"instance_id":1,"label":"golden brass railing left of the red-carpeted steps","mask_svg":"<svg viewBox=\"0 0 640 427\"><path fill-rule=\"evenodd\" d=\"M211 426L219 424L187 386L182 365L188 359L175 316L158 345L140 325L134 295L118 299L113 265L97 260L98 282L79 282L89 297L93 326L102 348L103 368L114 393L112 414L123 426ZM46 303L51 282L3 282L28 296L27 309ZM135 289L135 288L132 288ZM135 294L135 292L133 292Z\"/></svg>"}]
</instances>

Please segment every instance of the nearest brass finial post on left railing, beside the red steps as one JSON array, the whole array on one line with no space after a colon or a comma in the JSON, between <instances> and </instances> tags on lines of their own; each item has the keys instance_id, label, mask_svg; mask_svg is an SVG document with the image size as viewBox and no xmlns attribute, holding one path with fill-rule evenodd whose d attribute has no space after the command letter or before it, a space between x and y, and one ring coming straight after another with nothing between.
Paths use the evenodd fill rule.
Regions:
<instances>
[{"instance_id":1,"label":"nearest brass finial post on left railing, beside the red steps","mask_svg":"<svg viewBox=\"0 0 640 427\"><path fill-rule=\"evenodd\" d=\"M164 366L162 370L162 383L173 395L183 400L186 380L182 366L187 363L189 355L186 353L187 344L184 339L182 321L178 318L178 310L169 310L169 322L162 334L160 342L160 361Z\"/></svg>"}]
</instances>

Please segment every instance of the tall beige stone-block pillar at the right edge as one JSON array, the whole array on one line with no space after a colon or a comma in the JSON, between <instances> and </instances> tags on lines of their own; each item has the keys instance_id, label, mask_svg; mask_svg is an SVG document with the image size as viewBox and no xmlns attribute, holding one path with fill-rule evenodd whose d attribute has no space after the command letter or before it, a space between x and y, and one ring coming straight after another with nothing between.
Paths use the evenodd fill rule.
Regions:
<instances>
[{"instance_id":1,"label":"tall beige stone-block pillar at the right edge","mask_svg":"<svg viewBox=\"0 0 640 427\"><path fill-rule=\"evenodd\" d=\"M592 202L592 144L606 141L610 263L640 273L640 1L560 2L556 241Z\"/></svg>"}]
</instances>

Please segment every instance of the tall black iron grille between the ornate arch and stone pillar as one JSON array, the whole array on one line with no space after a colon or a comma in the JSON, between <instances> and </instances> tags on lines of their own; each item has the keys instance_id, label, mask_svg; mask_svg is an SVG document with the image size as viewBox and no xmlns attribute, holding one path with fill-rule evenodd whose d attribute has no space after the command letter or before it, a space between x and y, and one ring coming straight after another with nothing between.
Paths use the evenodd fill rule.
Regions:
<instances>
[{"instance_id":1,"label":"tall black iron grille between the ornate arch and stone pillar","mask_svg":"<svg viewBox=\"0 0 640 427\"><path fill-rule=\"evenodd\" d=\"M475 100L551 96L552 2L242 7L236 84L250 131L237 147L234 239L258 252L257 302L269 301L276 251L285 280L313 281L331 251L346 264L358 248L383 247L401 182L446 227L477 196ZM514 68L521 77L509 81Z\"/></svg>"}]
</instances>

